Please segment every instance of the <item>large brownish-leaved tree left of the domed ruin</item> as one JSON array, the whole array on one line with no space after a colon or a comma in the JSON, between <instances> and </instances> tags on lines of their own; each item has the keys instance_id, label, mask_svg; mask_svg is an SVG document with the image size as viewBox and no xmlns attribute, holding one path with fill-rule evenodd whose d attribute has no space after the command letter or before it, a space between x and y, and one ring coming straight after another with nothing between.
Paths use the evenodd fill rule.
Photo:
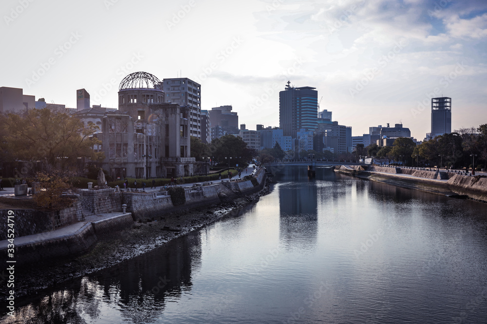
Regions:
<instances>
[{"instance_id":1,"label":"large brownish-leaved tree left of the domed ruin","mask_svg":"<svg viewBox=\"0 0 487 324\"><path fill-rule=\"evenodd\" d=\"M92 136L99 127L94 123L85 126L64 111L31 109L24 114L7 114L1 123L7 131L2 151L14 160L44 160L47 165L66 169L75 165L77 157L96 160L103 156L93 151L93 146L101 143Z\"/></svg>"}]
</instances>

